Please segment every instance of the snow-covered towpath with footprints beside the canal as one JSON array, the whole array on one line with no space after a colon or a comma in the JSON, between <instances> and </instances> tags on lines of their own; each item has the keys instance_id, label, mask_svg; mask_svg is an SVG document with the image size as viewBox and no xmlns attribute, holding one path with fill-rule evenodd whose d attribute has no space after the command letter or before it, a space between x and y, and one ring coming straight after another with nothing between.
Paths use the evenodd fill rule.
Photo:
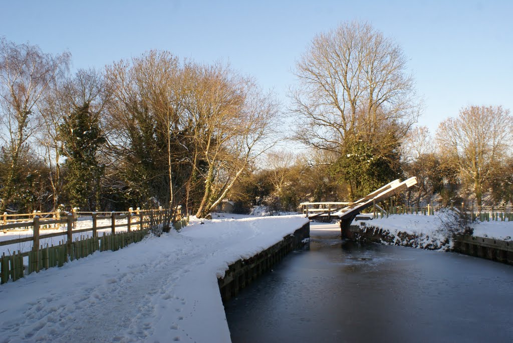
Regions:
<instances>
[{"instance_id":1,"label":"snow-covered towpath with footprints beside the canal","mask_svg":"<svg viewBox=\"0 0 513 343\"><path fill-rule=\"evenodd\" d=\"M307 222L207 220L0 287L2 341L228 342L217 276Z\"/></svg>"}]
</instances>

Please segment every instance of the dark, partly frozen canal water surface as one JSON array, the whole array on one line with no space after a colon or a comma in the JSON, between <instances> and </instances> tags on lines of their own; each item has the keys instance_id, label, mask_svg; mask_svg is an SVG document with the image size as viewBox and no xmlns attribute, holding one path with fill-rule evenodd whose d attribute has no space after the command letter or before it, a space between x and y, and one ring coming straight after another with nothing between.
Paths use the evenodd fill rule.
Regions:
<instances>
[{"instance_id":1,"label":"dark, partly frozen canal water surface","mask_svg":"<svg viewBox=\"0 0 513 343\"><path fill-rule=\"evenodd\" d=\"M513 267L315 236L225 304L237 342L512 342Z\"/></svg>"}]
</instances>

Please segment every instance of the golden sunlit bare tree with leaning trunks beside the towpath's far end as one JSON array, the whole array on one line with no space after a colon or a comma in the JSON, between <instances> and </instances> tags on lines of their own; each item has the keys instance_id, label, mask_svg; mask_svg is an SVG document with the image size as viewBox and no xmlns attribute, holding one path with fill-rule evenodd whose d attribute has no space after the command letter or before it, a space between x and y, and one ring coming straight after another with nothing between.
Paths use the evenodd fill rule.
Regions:
<instances>
[{"instance_id":1,"label":"golden sunlit bare tree with leaning trunks beside the towpath's far end","mask_svg":"<svg viewBox=\"0 0 513 343\"><path fill-rule=\"evenodd\" d=\"M204 217L226 197L248 165L272 146L267 139L277 106L254 80L228 66L196 66L193 73L185 118L192 124L196 147L192 160L207 165L201 172L205 188L196 211L196 216Z\"/></svg>"}]
</instances>

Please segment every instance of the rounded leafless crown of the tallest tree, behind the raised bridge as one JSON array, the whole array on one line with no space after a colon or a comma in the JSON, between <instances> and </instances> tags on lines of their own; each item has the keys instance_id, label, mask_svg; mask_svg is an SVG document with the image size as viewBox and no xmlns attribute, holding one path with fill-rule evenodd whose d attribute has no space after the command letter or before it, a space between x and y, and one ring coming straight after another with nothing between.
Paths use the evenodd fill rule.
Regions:
<instances>
[{"instance_id":1,"label":"rounded leafless crown of the tallest tree, behind the raised bridge","mask_svg":"<svg viewBox=\"0 0 513 343\"><path fill-rule=\"evenodd\" d=\"M392 147L419 115L403 52L366 23L315 36L295 75L291 111L302 118L296 138L317 149L340 153L348 136Z\"/></svg>"}]
</instances>

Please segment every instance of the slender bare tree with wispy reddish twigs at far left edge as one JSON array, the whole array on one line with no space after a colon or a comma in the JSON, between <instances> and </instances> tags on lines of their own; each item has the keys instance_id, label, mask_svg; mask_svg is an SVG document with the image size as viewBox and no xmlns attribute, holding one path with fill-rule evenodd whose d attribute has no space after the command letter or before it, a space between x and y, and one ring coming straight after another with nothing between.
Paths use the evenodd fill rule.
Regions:
<instances>
[{"instance_id":1,"label":"slender bare tree with wispy reddish twigs at far left edge","mask_svg":"<svg viewBox=\"0 0 513 343\"><path fill-rule=\"evenodd\" d=\"M35 131L35 105L60 72L67 70L70 54L46 54L37 46L16 45L0 38L0 125L10 171L2 189L0 211L12 200L19 158Z\"/></svg>"}]
</instances>

